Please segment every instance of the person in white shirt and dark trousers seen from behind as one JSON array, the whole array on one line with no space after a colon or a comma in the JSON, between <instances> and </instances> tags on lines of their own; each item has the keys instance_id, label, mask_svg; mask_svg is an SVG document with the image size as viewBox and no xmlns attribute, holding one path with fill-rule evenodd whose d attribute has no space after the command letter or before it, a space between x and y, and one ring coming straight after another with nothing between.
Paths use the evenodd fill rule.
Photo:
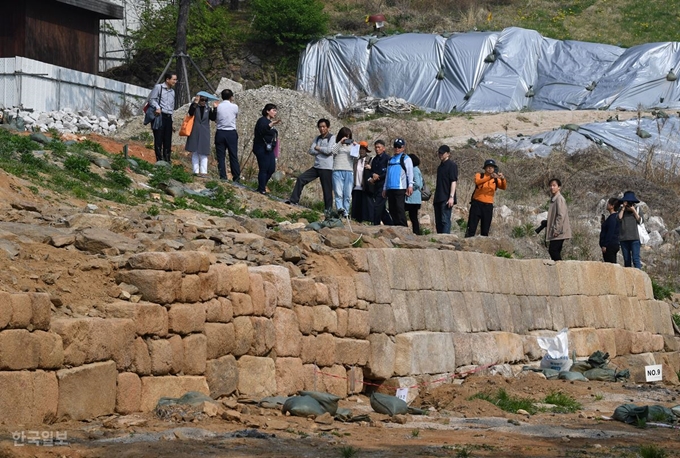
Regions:
<instances>
[{"instance_id":1,"label":"person in white shirt and dark trousers seen from behind","mask_svg":"<svg viewBox=\"0 0 680 458\"><path fill-rule=\"evenodd\" d=\"M210 113L210 119L217 124L215 131L217 170L220 174L220 180L226 180L227 166L225 161L227 152L229 152L231 179L238 183L241 180L241 166L238 163L238 132L236 131L238 105L231 101L234 97L231 89L224 89L220 95L222 102L215 102L215 110Z\"/></svg>"}]
</instances>

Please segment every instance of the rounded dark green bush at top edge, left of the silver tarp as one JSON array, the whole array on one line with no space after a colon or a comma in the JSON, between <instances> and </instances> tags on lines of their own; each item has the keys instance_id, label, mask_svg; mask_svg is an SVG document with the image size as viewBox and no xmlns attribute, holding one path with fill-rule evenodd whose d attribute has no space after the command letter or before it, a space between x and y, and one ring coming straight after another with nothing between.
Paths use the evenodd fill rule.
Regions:
<instances>
[{"instance_id":1,"label":"rounded dark green bush at top edge, left of the silver tarp","mask_svg":"<svg viewBox=\"0 0 680 458\"><path fill-rule=\"evenodd\" d=\"M301 51L328 32L328 15L318 0L251 0L256 37Z\"/></svg>"}]
</instances>

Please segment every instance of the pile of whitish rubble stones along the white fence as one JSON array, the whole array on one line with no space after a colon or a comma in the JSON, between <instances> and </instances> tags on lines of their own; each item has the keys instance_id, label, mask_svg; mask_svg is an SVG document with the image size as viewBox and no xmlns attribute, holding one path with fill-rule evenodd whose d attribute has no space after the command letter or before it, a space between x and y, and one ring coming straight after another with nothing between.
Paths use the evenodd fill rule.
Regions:
<instances>
[{"instance_id":1,"label":"pile of whitish rubble stones along the white fence","mask_svg":"<svg viewBox=\"0 0 680 458\"><path fill-rule=\"evenodd\" d=\"M96 116L90 110L74 112L70 108L59 111L36 112L22 108L11 108L2 112L2 123L8 124L16 130L47 132L55 129L60 133L90 133L112 134L125 121L115 115Z\"/></svg>"}]
</instances>

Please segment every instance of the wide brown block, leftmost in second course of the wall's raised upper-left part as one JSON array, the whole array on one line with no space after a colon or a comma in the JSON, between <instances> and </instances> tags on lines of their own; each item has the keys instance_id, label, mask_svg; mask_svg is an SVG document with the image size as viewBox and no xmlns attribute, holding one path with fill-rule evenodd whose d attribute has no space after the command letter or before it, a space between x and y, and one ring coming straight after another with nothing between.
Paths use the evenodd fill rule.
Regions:
<instances>
[{"instance_id":1,"label":"wide brown block, leftmost in second course of the wall's raised upper-left part","mask_svg":"<svg viewBox=\"0 0 680 458\"><path fill-rule=\"evenodd\" d=\"M160 270L121 271L116 275L118 283L135 285L142 299L156 304L171 304L181 293L182 273Z\"/></svg>"}]
</instances>

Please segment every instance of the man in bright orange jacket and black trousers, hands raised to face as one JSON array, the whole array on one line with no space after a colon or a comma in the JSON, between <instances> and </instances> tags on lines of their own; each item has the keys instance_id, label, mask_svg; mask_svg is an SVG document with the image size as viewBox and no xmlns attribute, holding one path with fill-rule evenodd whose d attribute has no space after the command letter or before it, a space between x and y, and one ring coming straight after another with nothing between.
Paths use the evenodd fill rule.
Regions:
<instances>
[{"instance_id":1,"label":"man in bright orange jacket and black trousers, hands raised to face","mask_svg":"<svg viewBox=\"0 0 680 458\"><path fill-rule=\"evenodd\" d=\"M475 191L470 200L470 216L465 237L474 237L482 222L481 235L487 237L493 218L493 198L497 189L506 189L507 182L493 159L484 161L484 173L475 173Z\"/></svg>"}]
</instances>

